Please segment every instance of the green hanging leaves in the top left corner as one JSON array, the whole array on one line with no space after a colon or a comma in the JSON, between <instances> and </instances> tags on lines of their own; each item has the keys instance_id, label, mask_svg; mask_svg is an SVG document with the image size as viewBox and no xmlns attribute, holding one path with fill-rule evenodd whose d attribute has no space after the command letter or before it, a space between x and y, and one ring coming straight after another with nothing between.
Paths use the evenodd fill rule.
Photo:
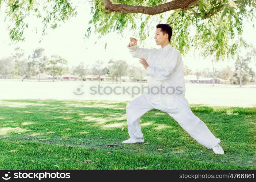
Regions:
<instances>
[{"instance_id":1,"label":"green hanging leaves in the top left corner","mask_svg":"<svg viewBox=\"0 0 256 182\"><path fill-rule=\"evenodd\" d=\"M50 28L55 29L59 22L64 22L76 15L76 7L73 7L71 0L8 0L7 7L5 13L13 43L25 40L23 32L29 27L25 22L27 17L37 17L43 24L41 35L46 35L49 25Z\"/></svg>"}]
</instances>

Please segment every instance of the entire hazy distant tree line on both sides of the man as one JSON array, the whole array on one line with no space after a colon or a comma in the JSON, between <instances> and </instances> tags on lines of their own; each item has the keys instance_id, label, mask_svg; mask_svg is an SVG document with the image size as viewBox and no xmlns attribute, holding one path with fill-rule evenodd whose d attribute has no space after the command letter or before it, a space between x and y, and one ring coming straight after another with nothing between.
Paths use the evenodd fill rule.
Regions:
<instances>
[{"instance_id":1,"label":"entire hazy distant tree line on both sides of the man","mask_svg":"<svg viewBox=\"0 0 256 182\"><path fill-rule=\"evenodd\" d=\"M16 48L11 56L0 59L0 75L3 79L13 78L15 75L24 79L37 76L40 81L41 74L52 76L52 80L56 76L63 74L74 74L80 77L83 82L87 75L97 75L97 79L101 82L102 76L108 76L112 82L121 83L123 76L128 76L130 80L142 80L146 76L143 67L129 65L125 60L110 59L108 64L104 64L102 60L97 60L94 64L85 65L80 62L78 66L73 66L71 70L68 67L66 59L59 55L51 55L50 58L45 56L44 48L36 48L31 55L25 56L24 50ZM250 67L250 63L255 61L256 50L251 49L245 56L237 56L236 62L231 66L216 70L216 61L212 60L212 67L203 70L192 71L188 66L184 65L184 75L196 75L197 80L200 76L221 78L225 84L242 84L242 82L255 82L255 71ZM240 82L240 78L242 82ZM214 83L213 83L214 84Z\"/></svg>"}]
</instances>

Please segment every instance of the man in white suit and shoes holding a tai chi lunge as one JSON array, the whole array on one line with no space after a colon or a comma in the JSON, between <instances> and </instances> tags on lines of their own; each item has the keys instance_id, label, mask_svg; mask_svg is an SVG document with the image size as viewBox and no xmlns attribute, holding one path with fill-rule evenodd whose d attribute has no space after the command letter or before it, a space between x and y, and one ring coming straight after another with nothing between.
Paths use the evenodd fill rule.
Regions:
<instances>
[{"instance_id":1,"label":"man in white suit and shoes holding a tai chi lunge","mask_svg":"<svg viewBox=\"0 0 256 182\"><path fill-rule=\"evenodd\" d=\"M140 58L139 62L146 69L148 92L126 106L130 138L123 143L144 142L139 119L155 108L172 116L198 143L216 154L224 154L218 144L221 140L189 108L181 54L170 45L172 28L169 24L158 24L156 28L154 39L161 48L139 48L137 39L133 37L127 46L132 57Z\"/></svg>"}]
</instances>

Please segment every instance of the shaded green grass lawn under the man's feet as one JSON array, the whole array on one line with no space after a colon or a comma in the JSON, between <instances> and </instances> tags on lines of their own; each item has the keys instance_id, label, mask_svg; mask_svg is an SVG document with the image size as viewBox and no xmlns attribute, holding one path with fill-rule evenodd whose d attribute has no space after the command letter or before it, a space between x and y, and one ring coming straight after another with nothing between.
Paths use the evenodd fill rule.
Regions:
<instances>
[{"instance_id":1,"label":"shaded green grass lawn under the man's feet","mask_svg":"<svg viewBox=\"0 0 256 182\"><path fill-rule=\"evenodd\" d=\"M141 118L147 144L121 143L127 103L0 100L0 169L256 169L256 107L190 105L221 139L218 155L155 109Z\"/></svg>"}]
</instances>

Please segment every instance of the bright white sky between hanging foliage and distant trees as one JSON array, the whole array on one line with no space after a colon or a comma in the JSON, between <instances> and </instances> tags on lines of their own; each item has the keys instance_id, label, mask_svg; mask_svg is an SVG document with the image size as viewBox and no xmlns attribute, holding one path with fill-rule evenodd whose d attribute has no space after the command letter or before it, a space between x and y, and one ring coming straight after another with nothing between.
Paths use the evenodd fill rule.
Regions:
<instances>
[{"instance_id":1,"label":"bright white sky between hanging foliage and distant trees","mask_svg":"<svg viewBox=\"0 0 256 182\"><path fill-rule=\"evenodd\" d=\"M106 64L110 59L114 60L126 60L128 64L135 64L137 66L142 66L139 63L139 59L132 58L129 51L127 50L127 45L129 43L129 37L133 34L126 30L124 36L118 35L116 32L112 32L102 39L98 40L98 35L91 33L89 40L84 40L84 34L88 28L88 22L90 21L90 5L87 1L79 2L77 12L75 17L72 17L65 23L62 23L60 27L54 30L48 29L48 35L43 36L43 40L39 43L41 38L41 29L38 28L38 33L34 31L34 26L41 26L37 19L31 17L29 18L29 29L25 31L25 42L20 42L16 44L11 44L9 39L7 25L8 22L4 21L4 6L1 7L0 11L0 58L5 56L10 56L14 51L14 48L19 46L25 50L26 54L31 54L35 48L43 47L45 48L45 55L50 57L50 55L57 54L67 59L68 66L77 66L80 62L85 64L93 64L96 60L103 60ZM164 23L164 22L163 22ZM157 23L155 23L157 24ZM251 26L251 24L244 22L244 32L242 37L248 42L256 47L256 36L254 32L256 29ZM160 48L154 41L155 29L152 29L152 37L148 37L147 45L145 48ZM95 41L98 43L94 44ZM101 43L103 42L103 43ZM105 50L105 42L107 42L107 48ZM138 40L138 46L139 46ZM210 58L202 58L196 51L191 49L187 55L182 55L182 60L184 65L187 65L191 70L202 70L204 68L211 69ZM233 65L234 60L225 60L225 62L218 62L216 64L217 70ZM255 63L250 65L253 70L256 71Z\"/></svg>"}]
</instances>

